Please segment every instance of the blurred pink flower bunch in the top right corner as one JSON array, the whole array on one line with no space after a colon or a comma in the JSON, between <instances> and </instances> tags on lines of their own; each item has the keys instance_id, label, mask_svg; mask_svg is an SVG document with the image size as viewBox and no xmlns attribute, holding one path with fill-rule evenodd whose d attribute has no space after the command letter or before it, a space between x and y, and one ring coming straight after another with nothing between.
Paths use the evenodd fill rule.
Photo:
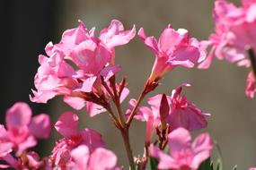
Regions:
<instances>
[{"instance_id":1,"label":"blurred pink flower bunch in the top right corner","mask_svg":"<svg viewBox=\"0 0 256 170\"><path fill-rule=\"evenodd\" d=\"M209 38L212 51L199 68L208 68L214 55L218 59L225 58L230 63L249 67L251 63L247 50L252 48L256 52L256 2L244 0L242 7L236 7L232 3L218 0L213 14L216 32Z\"/></svg>"}]
</instances>

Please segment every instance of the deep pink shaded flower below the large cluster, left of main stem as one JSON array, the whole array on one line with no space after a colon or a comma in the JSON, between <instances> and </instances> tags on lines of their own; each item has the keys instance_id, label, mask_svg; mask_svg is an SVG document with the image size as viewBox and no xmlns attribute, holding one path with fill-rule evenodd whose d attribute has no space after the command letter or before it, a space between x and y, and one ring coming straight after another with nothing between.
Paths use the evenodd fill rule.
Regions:
<instances>
[{"instance_id":1,"label":"deep pink shaded flower below the large cluster, left of main stem","mask_svg":"<svg viewBox=\"0 0 256 170\"><path fill-rule=\"evenodd\" d=\"M57 141L50 156L55 166L65 167L71 161L71 150L79 145L84 144L91 151L105 146L100 133L90 129L79 132L77 125L78 116L72 112L66 112L58 118L55 128L64 138Z\"/></svg>"}]
</instances>

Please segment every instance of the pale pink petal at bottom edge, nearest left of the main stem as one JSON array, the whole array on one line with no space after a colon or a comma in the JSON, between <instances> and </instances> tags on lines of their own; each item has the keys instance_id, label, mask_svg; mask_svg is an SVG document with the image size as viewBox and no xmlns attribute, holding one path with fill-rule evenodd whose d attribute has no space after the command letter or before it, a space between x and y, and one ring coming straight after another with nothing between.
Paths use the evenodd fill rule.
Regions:
<instances>
[{"instance_id":1,"label":"pale pink petal at bottom edge, nearest left of the main stem","mask_svg":"<svg viewBox=\"0 0 256 170\"><path fill-rule=\"evenodd\" d=\"M112 151L102 148L95 149L90 157L88 169L97 169L99 165L104 170L114 169L117 160L118 158Z\"/></svg>"}]
</instances>

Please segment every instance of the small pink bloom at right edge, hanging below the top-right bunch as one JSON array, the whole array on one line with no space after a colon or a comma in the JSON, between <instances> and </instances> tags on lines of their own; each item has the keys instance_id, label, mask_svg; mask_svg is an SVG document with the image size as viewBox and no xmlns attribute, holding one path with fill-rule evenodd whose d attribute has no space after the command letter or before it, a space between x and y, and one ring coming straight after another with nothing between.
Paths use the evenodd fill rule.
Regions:
<instances>
[{"instance_id":1,"label":"small pink bloom at right edge, hanging below the top-right bunch","mask_svg":"<svg viewBox=\"0 0 256 170\"><path fill-rule=\"evenodd\" d=\"M255 76L253 72L249 72L247 81L246 81L245 94L248 98L253 98L255 92L256 92Z\"/></svg>"}]
</instances>

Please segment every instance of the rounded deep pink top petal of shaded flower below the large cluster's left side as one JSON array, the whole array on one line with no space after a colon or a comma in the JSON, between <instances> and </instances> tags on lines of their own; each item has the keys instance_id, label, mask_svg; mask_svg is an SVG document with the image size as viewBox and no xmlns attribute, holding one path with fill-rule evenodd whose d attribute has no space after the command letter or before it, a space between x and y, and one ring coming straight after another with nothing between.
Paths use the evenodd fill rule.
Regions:
<instances>
[{"instance_id":1,"label":"rounded deep pink top petal of shaded flower below the large cluster's left side","mask_svg":"<svg viewBox=\"0 0 256 170\"><path fill-rule=\"evenodd\" d=\"M78 119L73 112L65 112L57 119L54 127L61 135L69 137L77 134Z\"/></svg>"}]
</instances>

